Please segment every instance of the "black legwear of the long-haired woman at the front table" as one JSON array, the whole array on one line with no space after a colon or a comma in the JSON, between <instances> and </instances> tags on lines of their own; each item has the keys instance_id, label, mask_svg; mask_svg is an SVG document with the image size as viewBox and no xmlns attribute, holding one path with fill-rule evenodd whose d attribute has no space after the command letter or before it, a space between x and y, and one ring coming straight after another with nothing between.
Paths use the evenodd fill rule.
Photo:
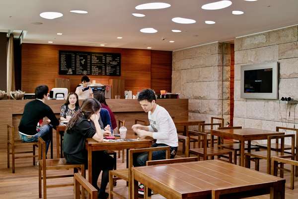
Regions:
<instances>
[{"instance_id":1,"label":"black legwear of the long-haired woman at the front table","mask_svg":"<svg viewBox=\"0 0 298 199\"><path fill-rule=\"evenodd\" d=\"M64 153L64 157L69 163L85 164L85 168L88 168L87 151L73 155ZM109 182L109 170L113 170L113 167L114 160L105 151L92 152L92 186L99 190L100 193L105 193L105 189ZM99 189L97 181L101 171L101 185Z\"/></svg>"}]
</instances>

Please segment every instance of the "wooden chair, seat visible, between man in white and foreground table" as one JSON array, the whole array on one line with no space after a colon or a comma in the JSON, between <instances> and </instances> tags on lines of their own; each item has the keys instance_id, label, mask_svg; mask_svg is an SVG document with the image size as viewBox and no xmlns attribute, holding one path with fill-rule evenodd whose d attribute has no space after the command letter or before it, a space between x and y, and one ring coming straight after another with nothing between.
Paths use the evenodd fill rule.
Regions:
<instances>
[{"instance_id":1,"label":"wooden chair, seat visible, between man in white and foreground table","mask_svg":"<svg viewBox=\"0 0 298 199\"><path fill-rule=\"evenodd\" d=\"M131 149L129 150L129 162L128 162L128 169L118 169L109 171L109 181L113 181L113 176L116 176L117 179L122 179L128 182L128 190L129 190L129 199L132 198L132 167L133 167L133 155L134 153L143 153L148 152L148 160L152 160L152 152L153 151L164 151L165 150L165 157L166 159L170 158L170 147L152 147L152 148L143 148L143 149ZM117 196L120 199L126 199L126 197L118 194L117 192L113 191L114 186L110 184L109 186L109 195L110 199L113 199L113 196Z\"/></svg>"}]
</instances>

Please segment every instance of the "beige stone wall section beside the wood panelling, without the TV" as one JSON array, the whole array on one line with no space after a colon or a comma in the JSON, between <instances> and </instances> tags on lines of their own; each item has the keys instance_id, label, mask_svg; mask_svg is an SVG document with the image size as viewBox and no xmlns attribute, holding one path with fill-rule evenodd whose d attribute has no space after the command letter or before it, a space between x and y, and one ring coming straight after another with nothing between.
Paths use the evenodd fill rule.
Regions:
<instances>
[{"instance_id":1,"label":"beige stone wall section beside the wood panelling, without the TV","mask_svg":"<svg viewBox=\"0 0 298 199\"><path fill-rule=\"evenodd\" d=\"M189 99L189 118L229 121L229 47L212 43L173 52L172 92Z\"/></svg>"}]
</instances>

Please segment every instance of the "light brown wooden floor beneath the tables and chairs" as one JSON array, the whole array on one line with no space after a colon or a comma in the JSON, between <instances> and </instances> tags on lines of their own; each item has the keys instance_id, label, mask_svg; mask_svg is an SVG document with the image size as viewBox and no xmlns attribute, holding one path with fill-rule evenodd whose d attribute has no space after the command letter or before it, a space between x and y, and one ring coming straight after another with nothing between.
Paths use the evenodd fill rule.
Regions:
<instances>
[{"instance_id":1,"label":"light brown wooden floor beneath the tables and chairs","mask_svg":"<svg viewBox=\"0 0 298 199\"><path fill-rule=\"evenodd\" d=\"M54 153L56 154L56 153ZM55 155L54 155L55 157ZM6 151L0 150L0 164L3 165L6 161ZM121 159L117 159L117 168L125 168L125 163ZM252 163L252 168L254 164ZM266 162L260 161L260 171L266 172ZM55 174L72 173L69 171L54 171ZM53 171L49 174L54 174ZM290 190L290 173L285 173L286 182L286 199L298 199L298 177L295 179L295 189ZM49 184L72 183L72 178L64 178L63 180L53 179L48 180ZM100 180L98 181L100 185ZM107 189L108 190L108 189ZM115 191L128 196L128 189L125 181L118 181ZM48 199L73 199L73 187L48 189ZM116 197L114 197L116 198ZM159 195L153 195L152 199L163 199ZM11 169L0 169L0 199L38 199L38 167L32 166L32 159L16 160L15 174L12 174ZM269 196L253 197L252 199L269 199Z\"/></svg>"}]
</instances>

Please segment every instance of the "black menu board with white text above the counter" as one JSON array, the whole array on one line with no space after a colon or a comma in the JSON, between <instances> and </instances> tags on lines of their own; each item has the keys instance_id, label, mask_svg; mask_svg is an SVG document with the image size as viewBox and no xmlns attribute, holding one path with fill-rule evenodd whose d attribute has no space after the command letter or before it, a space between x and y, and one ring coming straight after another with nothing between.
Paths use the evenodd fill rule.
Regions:
<instances>
[{"instance_id":1,"label":"black menu board with white text above the counter","mask_svg":"<svg viewBox=\"0 0 298 199\"><path fill-rule=\"evenodd\" d=\"M121 75L120 53L59 51L59 75Z\"/></svg>"}]
</instances>

